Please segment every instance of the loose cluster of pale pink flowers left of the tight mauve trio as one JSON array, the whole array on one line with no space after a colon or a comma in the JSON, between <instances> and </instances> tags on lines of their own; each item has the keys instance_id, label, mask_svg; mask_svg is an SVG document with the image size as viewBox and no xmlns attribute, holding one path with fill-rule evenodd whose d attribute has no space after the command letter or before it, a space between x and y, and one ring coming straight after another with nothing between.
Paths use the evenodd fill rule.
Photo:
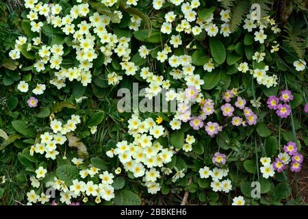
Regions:
<instances>
[{"instance_id":1,"label":"loose cluster of pale pink flowers left of the tight mauve trio","mask_svg":"<svg viewBox=\"0 0 308 219\"><path fill-rule=\"evenodd\" d=\"M233 116L233 112L235 109L229 102L231 102L231 99L234 96L235 95L231 90L227 90L227 92L224 92L222 99L224 99L224 101L226 101L227 103L225 103L221 107L222 115L227 117ZM231 121L232 125L235 126L243 125L244 127L246 127L246 123L248 123L248 125L255 125L257 123L257 115L253 112L253 110L251 110L248 107L245 107L246 105L245 99L242 99L242 97L238 96L238 99L235 101L234 105L235 107L238 107L240 110L243 110L246 121L244 121L243 118L241 118L240 116L233 116Z\"/></svg>"}]
</instances>

